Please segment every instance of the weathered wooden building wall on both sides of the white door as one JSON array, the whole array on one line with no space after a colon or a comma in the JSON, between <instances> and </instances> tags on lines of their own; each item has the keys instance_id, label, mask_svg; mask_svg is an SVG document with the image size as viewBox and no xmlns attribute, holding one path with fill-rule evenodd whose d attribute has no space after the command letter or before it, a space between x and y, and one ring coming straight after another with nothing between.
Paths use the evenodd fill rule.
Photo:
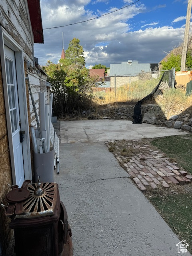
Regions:
<instances>
[{"instance_id":1,"label":"weathered wooden building wall on both sides of the white door","mask_svg":"<svg viewBox=\"0 0 192 256\"><path fill-rule=\"evenodd\" d=\"M46 92L48 100L46 76L34 67L33 42L31 27L28 20L28 12L25 6L26 0L3 0L0 1L0 25L23 49L25 63L30 62L28 68L25 64L25 75L28 74L36 108L38 112L38 92ZM19 86L19 85L18 85ZM36 125L31 98L28 95L28 84L26 83L28 100L29 126ZM2 73L0 68L0 201L4 203L7 193L7 183L12 184L12 173L10 166L10 155L8 147L8 134L6 126L6 114L4 105L4 94L2 86ZM32 152L32 151L31 151ZM8 227L9 219L5 217L4 210L0 208L0 256L12 256L13 232ZM2 252L1 252L2 251Z\"/></svg>"}]
</instances>

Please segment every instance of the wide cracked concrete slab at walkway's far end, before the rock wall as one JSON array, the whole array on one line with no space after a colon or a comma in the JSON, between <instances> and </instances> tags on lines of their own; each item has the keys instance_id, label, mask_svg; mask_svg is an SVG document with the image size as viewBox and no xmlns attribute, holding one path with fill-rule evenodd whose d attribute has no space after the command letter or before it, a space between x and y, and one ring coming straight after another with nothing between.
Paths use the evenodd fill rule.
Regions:
<instances>
[{"instance_id":1,"label":"wide cracked concrete slab at walkway's far end, before the rock wall","mask_svg":"<svg viewBox=\"0 0 192 256\"><path fill-rule=\"evenodd\" d=\"M104 142L137 140L187 134L185 131L151 124L132 124L128 120L61 121L61 142Z\"/></svg>"}]
</instances>

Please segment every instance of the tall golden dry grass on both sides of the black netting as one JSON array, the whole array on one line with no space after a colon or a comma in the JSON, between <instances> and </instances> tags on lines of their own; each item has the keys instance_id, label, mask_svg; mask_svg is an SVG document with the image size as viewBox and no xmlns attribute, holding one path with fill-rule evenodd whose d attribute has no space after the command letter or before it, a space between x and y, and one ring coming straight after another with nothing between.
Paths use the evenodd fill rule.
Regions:
<instances>
[{"instance_id":1,"label":"tall golden dry grass on both sides of the black netting","mask_svg":"<svg viewBox=\"0 0 192 256\"><path fill-rule=\"evenodd\" d=\"M159 79L138 80L129 84L125 84L116 89L116 96L114 90L111 92L95 92L93 101L99 105L114 104L115 102L136 102L141 100L158 84ZM192 95L186 96L185 91L180 89L166 89L163 90L163 95L155 98L156 103L162 108L163 111L173 112L182 109L186 110L192 106Z\"/></svg>"}]
</instances>

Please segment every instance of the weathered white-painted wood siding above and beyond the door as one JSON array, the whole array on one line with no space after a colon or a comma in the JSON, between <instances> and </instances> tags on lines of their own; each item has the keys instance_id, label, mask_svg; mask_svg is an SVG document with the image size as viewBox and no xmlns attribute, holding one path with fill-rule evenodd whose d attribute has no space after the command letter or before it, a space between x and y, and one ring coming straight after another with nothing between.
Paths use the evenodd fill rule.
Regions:
<instances>
[{"instance_id":1,"label":"weathered white-painted wood siding above and beyond the door","mask_svg":"<svg viewBox=\"0 0 192 256\"><path fill-rule=\"evenodd\" d=\"M47 92L46 76L44 73L37 70L33 65L33 42L31 39L30 24L28 22L28 13L25 6L26 0L4 0L0 4L0 25L22 46L24 50L24 60L30 62L30 68L27 68L34 101L38 112L38 92ZM32 35L33 37L33 35ZM46 102L47 99L46 93ZM32 102L29 97L30 103L30 124L35 125L34 110ZM47 103L46 103L47 104Z\"/></svg>"}]
</instances>

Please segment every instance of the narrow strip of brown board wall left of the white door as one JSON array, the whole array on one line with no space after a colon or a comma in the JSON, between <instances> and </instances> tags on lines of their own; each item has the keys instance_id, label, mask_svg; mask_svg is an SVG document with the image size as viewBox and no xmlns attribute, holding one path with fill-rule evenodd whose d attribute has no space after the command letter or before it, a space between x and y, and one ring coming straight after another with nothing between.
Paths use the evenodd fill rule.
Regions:
<instances>
[{"instance_id":1,"label":"narrow strip of brown board wall left of the white door","mask_svg":"<svg viewBox=\"0 0 192 256\"><path fill-rule=\"evenodd\" d=\"M10 154L8 145L8 133L6 125L5 103L2 83L2 72L0 63L0 203L6 204L4 196L8 192L8 185L12 184L12 174L10 166ZM10 219L4 214L4 209L0 206L0 242L2 254L12 256L13 232L9 229Z\"/></svg>"}]
</instances>

